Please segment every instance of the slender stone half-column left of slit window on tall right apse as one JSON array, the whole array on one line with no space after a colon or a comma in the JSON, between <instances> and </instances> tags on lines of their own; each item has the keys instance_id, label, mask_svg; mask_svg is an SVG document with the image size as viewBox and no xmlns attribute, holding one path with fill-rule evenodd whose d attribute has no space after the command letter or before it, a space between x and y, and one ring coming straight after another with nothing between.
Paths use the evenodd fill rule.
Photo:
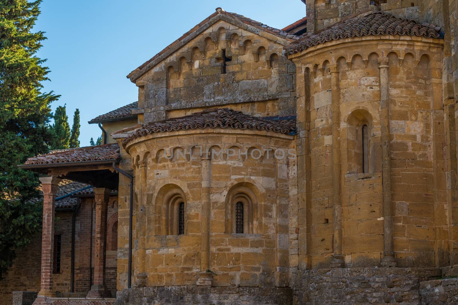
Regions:
<instances>
[{"instance_id":1,"label":"slender stone half-column left of slit window on tall right apse","mask_svg":"<svg viewBox=\"0 0 458 305\"><path fill-rule=\"evenodd\" d=\"M334 253L331 267L342 268L345 265L342 241L342 200L341 164L340 164L340 88L337 65L329 67L331 72L331 111L333 126L333 217L334 217Z\"/></svg>"}]
</instances>

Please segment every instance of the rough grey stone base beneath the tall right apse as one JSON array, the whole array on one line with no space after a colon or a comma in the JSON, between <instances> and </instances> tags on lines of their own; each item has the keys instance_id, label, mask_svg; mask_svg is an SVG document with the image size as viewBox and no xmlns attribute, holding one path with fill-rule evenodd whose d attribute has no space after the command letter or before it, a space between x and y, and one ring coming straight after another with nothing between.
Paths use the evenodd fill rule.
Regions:
<instances>
[{"instance_id":1,"label":"rough grey stone base beneath the tall right apse","mask_svg":"<svg viewBox=\"0 0 458 305\"><path fill-rule=\"evenodd\" d=\"M420 304L420 282L439 268L335 268L298 273L294 304Z\"/></svg>"}]
</instances>

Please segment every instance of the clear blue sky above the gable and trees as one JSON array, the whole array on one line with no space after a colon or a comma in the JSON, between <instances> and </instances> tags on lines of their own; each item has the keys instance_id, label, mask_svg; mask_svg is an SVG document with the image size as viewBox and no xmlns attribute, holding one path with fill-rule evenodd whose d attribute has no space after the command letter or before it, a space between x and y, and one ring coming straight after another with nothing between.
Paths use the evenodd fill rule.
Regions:
<instances>
[{"instance_id":1,"label":"clear blue sky above the gable and trees","mask_svg":"<svg viewBox=\"0 0 458 305\"><path fill-rule=\"evenodd\" d=\"M44 90L62 95L53 112L66 104L71 125L79 108L81 146L89 145L101 132L87 121L137 100L126 75L218 6L277 28L305 16L300 0L44 0L34 30L48 37L38 52L51 70Z\"/></svg>"}]
</instances>

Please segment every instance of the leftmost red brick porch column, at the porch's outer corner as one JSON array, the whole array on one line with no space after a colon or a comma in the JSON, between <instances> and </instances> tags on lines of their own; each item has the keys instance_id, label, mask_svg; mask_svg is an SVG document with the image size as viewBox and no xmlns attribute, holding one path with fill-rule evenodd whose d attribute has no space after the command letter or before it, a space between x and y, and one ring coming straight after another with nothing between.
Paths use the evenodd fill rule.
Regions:
<instances>
[{"instance_id":1,"label":"leftmost red brick porch column, at the porch's outer corner","mask_svg":"<svg viewBox=\"0 0 458 305\"><path fill-rule=\"evenodd\" d=\"M54 259L54 210L57 177L41 177L43 188L43 229L41 237L41 284L38 297L34 305L49 304L49 297L55 296L53 292L53 259Z\"/></svg>"}]
</instances>

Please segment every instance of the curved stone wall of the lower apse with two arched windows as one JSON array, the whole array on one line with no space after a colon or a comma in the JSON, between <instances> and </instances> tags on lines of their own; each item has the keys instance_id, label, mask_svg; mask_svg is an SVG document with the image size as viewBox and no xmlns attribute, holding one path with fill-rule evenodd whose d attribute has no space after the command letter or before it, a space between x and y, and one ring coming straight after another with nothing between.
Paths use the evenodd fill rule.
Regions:
<instances>
[{"instance_id":1,"label":"curved stone wall of the lower apse with two arched windows","mask_svg":"<svg viewBox=\"0 0 458 305\"><path fill-rule=\"evenodd\" d=\"M256 157L261 156L255 152L253 158L251 150L255 147L261 151L280 147L287 151L292 137L275 137L269 132L265 135L265 131L249 131L247 134L215 131L211 135L199 135L198 131L180 133L176 136L159 135L128 148L136 168L134 236L138 246L134 249L134 273L146 273L147 287L154 287L195 285L198 273L206 271L200 267L202 160L199 149L194 147L201 145L204 150L215 152L210 161L209 270L213 286L288 286L291 184L288 156L276 161L271 151L270 157L264 155L260 161ZM164 148L169 158L174 152L173 158L164 157ZM221 149L223 155L218 154ZM228 149L233 149L237 155L228 157ZM239 160L239 149L242 153L248 152L247 157L242 155L243 161ZM196 159L190 159L190 152ZM182 191L185 202L185 233L181 235L170 234L165 225L168 220L161 201L165 198L163 190L173 188ZM251 194L250 200L253 200L249 200L252 214L245 214L245 217L252 215L251 223L245 226L244 233L233 231L231 221L235 217L229 215L231 203L227 200L237 189L248 189L247 194ZM291 238L294 239L294 234Z\"/></svg>"}]
</instances>

